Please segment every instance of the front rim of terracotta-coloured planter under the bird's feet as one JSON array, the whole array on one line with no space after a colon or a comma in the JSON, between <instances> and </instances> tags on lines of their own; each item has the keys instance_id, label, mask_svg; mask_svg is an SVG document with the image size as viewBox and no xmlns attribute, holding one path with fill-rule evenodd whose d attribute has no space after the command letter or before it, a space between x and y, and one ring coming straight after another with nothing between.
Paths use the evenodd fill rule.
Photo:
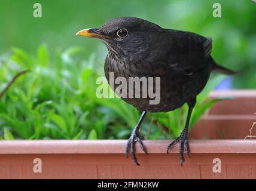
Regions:
<instances>
[{"instance_id":1,"label":"front rim of terracotta-coloured planter under the bird's feet","mask_svg":"<svg viewBox=\"0 0 256 191\"><path fill-rule=\"evenodd\" d=\"M166 153L172 140L144 140L148 153ZM127 140L13 140L0 141L5 154L123 154ZM256 153L256 140L191 140L191 153ZM136 144L136 153L143 153ZM176 144L170 153L178 153Z\"/></svg>"}]
</instances>

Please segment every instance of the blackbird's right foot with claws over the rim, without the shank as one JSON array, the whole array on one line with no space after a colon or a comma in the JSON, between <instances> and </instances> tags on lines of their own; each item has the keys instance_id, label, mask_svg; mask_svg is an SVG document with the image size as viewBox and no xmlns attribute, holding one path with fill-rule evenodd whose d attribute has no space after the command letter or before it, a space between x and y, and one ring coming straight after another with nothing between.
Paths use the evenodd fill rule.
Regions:
<instances>
[{"instance_id":1,"label":"blackbird's right foot with claws over the rim, without the shank","mask_svg":"<svg viewBox=\"0 0 256 191\"><path fill-rule=\"evenodd\" d=\"M167 146L167 154L169 153L170 149L178 142L179 142L179 155L181 158L181 167L182 167L183 162L185 162L185 158L183 155L184 147L185 147L185 153L190 158L190 151L189 151L189 147L188 147L188 132L186 130L183 130L181 132L181 135L179 137L175 138L175 140L173 140L172 143L170 143Z\"/></svg>"}]
</instances>

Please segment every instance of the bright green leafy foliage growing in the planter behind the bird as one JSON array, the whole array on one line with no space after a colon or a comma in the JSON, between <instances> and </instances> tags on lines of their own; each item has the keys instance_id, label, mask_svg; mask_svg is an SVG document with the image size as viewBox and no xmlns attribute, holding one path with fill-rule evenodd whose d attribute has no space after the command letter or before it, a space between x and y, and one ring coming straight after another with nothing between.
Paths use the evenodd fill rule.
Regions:
<instances>
[{"instance_id":1,"label":"bright green leafy foliage growing in the planter behind the bird","mask_svg":"<svg viewBox=\"0 0 256 191\"><path fill-rule=\"evenodd\" d=\"M56 51L38 48L31 57L12 48L1 57L0 92L22 70L0 100L2 139L108 139L127 138L139 119L139 112L120 98L97 98L98 64L92 54L87 61L77 60L81 48ZM102 72L103 72L103 66ZM200 116L223 98L207 100L210 91L224 76L214 76L198 96L191 127ZM150 113L142 124L146 138L177 137L184 127L187 106L168 113ZM166 130L166 131L165 131ZM170 133L170 134L168 134Z\"/></svg>"}]
</instances>

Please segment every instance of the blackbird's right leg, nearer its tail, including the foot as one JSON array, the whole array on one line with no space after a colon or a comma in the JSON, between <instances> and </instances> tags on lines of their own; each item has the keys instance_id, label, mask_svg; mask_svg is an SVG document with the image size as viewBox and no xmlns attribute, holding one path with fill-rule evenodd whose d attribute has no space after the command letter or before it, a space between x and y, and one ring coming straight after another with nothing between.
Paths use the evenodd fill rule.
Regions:
<instances>
[{"instance_id":1,"label":"blackbird's right leg, nearer its tail, including the foot","mask_svg":"<svg viewBox=\"0 0 256 191\"><path fill-rule=\"evenodd\" d=\"M196 104L196 98L188 101L187 103L188 103L188 116L187 116L187 121L186 121L184 130L182 130L181 135L179 135L179 137L175 138L175 140L173 140L172 143L170 143L167 146L167 154L168 154L170 149L179 141L179 155L181 157L181 166L185 161L185 158L183 155L184 147L185 147L185 153L187 154L188 157L190 157L190 152L188 148L188 127L190 125L191 113L193 111L194 105Z\"/></svg>"}]
</instances>

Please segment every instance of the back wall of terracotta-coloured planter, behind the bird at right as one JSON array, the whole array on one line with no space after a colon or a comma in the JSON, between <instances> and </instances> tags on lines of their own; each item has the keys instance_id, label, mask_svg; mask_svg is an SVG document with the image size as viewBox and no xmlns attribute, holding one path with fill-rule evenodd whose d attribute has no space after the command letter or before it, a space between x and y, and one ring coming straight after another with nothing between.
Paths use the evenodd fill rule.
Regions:
<instances>
[{"instance_id":1,"label":"back wall of terracotta-coloured planter, behind the bird at right","mask_svg":"<svg viewBox=\"0 0 256 191\"><path fill-rule=\"evenodd\" d=\"M197 122L190 138L243 139L256 122L256 91L213 91L214 97L233 97L216 103L206 117ZM254 114L255 113L255 114ZM256 125L255 125L256 126ZM256 127L252 130L256 135Z\"/></svg>"}]
</instances>

